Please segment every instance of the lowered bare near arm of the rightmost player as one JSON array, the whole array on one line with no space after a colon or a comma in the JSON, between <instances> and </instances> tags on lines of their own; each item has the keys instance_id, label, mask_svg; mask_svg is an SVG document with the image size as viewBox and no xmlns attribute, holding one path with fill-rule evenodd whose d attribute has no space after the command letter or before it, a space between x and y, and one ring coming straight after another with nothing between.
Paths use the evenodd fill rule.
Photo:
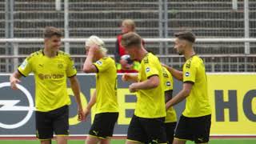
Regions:
<instances>
[{"instance_id":1,"label":"lowered bare near arm of the rightmost player","mask_svg":"<svg viewBox=\"0 0 256 144\"><path fill-rule=\"evenodd\" d=\"M182 102L187 96L190 95L190 91L192 90L192 83L185 82L183 83L182 90L175 95L174 98L171 98L168 102L166 102L166 110L170 108L170 106L174 106L178 104L179 102Z\"/></svg>"}]
</instances>

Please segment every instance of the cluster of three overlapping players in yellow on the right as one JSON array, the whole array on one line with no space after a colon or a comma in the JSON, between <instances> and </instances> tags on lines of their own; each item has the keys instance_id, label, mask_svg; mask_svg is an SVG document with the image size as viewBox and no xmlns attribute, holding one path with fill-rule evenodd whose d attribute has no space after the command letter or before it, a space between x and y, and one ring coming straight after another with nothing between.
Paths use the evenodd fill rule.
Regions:
<instances>
[{"instance_id":1,"label":"cluster of three overlapping players in yellow on the right","mask_svg":"<svg viewBox=\"0 0 256 144\"><path fill-rule=\"evenodd\" d=\"M174 34L174 49L178 54L184 55L186 63L183 70L163 65L166 69L159 67L158 58L147 53L141 43L138 34L128 33L122 36L122 46L134 58L141 62L141 69L138 76L124 74L123 81L132 81L129 86L130 92L137 92L138 102L135 108L134 117L130 122L127 134L127 144L130 143L168 143L185 144L187 140L195 143L209 142L211 108L207 94L206 70L201 58L194 52L195 35L184 31ZM182 90L171 97L171 83L168 82L168 73L174 78L183 82ZM167 78L164 81L162 74ZM171 79L170 79L171 81ZM163 93L165 91L165 94ZM166 98L166 125L163 125L163 117L166 111L162 111L164 106L163 98ZM186 109L176 125L176 114L172 107L186 99ZM163 127L165 126L165 127ZM165 131L166 130L166 131ZM174 133L174 136L173 136ZM166 135L168 134L168 135ZM166 138L165 138L166 137ZM174 138L174 142L173 141Z\"/></svg>"}]
</instances>

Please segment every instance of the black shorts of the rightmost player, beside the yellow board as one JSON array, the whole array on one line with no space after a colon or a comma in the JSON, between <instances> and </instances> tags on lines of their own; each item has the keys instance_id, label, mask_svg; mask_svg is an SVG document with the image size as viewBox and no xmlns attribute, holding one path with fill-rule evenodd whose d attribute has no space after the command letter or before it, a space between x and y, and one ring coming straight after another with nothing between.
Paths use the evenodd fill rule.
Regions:
<instances>
[{"instance_id":1,"label":"black shorts of the rightmost player, beside the yellow board","mask_svg":"<svg viewBox=\"0 0 256 144\"><path fill-rule=\"evenodd\" d=\"M188 118L181 116L175 131L174 138L190 140L195 143L205 143L209 141L210 118L206 115L197 118Z\"/></svg>"}]
</instances>

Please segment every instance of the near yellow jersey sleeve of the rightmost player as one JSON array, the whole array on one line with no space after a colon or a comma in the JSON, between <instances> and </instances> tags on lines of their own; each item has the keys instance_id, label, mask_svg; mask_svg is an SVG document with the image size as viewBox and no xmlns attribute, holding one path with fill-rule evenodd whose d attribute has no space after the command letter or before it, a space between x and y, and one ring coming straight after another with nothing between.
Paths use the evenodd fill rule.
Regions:
<instances>
[{"instance_id":1,"label":"near yellow jersey sleeve of the rightmost player","mask_svg":"<svg viewBox=\"0 0 256 144\"><path fill-rule=\"evenodd\" d=\"M196 65L192 61L188 61L183 66L183 82L195 82L197 73Z\"/></svg>"}]
</instances>

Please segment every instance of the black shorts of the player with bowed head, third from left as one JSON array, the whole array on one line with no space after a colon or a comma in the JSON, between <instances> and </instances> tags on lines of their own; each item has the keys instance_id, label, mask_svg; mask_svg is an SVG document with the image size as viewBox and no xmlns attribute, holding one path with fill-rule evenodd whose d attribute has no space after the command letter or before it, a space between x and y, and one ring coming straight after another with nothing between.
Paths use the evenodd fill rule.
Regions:
<instances>
[{"instance_id":1,"label":"black shorts of the player with bowed head, third from left","mask_svg":"<svg viewBox=\"0 0 256 144\"><path fill-rule=\"evenodd\" d=\"M166 143L165 118L140 118L133 116L127 140L142 143Z\"/></svg>"}]
</instances>

